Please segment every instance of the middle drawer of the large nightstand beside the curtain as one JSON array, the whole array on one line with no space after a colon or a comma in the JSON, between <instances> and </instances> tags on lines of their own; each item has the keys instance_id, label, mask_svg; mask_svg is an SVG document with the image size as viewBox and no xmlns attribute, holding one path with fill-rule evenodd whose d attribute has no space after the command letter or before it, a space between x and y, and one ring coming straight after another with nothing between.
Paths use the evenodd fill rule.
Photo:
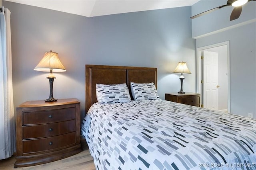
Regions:
<instances>
[{"instance_id":1,"label":"middle drawer of the large nightstand beside the curtain","mask_svg":"<svg viewBox=\"0 0 256 170\"><path fill-rule=\"evenodd\" d=\"M76 131L76 120L23 127L23 139L51 137Z\"/></svg>"}]
</instances>

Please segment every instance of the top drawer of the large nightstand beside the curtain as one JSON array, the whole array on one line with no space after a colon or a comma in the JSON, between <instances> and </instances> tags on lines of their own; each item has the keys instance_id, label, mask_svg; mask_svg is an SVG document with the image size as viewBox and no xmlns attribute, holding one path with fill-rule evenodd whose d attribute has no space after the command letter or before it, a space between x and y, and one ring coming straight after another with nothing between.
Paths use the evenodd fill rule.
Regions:
<instances>
[{"instance_id":1,"label":"top drawer of the large nightstand beside the curtain","mask_svg":"<svg viewBox=\"0 0 256 170\"><path fill-rule=\"evenodd\" d=\"M23 125L35 125L43 123L53 123L76 119L76 107L23 112Z\"/></svg>"}]
</instances>

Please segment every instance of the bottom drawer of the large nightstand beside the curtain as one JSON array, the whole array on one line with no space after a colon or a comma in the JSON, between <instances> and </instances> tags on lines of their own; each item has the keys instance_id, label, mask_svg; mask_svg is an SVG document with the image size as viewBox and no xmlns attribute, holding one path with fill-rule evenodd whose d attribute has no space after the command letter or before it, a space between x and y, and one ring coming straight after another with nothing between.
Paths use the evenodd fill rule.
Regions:
<instances>
[{"instance_id":1,"label":"bottom drawer of the large nightstand beside the curtain","mask_svg":"<svg viewBox=\"0 0 256 170\"><path fill-rule=\"evenodd\" d=\"M23 141L23 152L32 153L57 149L76 143L76 132L42 139Z\"/></svg>"}]
</instances>

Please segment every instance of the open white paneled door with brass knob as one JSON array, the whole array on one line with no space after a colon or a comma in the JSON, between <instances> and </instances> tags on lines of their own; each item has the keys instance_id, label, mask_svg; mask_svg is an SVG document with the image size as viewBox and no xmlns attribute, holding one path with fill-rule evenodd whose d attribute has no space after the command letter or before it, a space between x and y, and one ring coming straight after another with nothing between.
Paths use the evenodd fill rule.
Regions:
<instances>
[{"instance_id":1,"label":"open white paneled door with brass knob","mask_svg":"<svg viewBox=\"0 0 256 170\"><path fill-rule=\"evenodd\" d=\"M203 51L203 106L218 110L218 53Z\"/></svg>"}]
</instances>

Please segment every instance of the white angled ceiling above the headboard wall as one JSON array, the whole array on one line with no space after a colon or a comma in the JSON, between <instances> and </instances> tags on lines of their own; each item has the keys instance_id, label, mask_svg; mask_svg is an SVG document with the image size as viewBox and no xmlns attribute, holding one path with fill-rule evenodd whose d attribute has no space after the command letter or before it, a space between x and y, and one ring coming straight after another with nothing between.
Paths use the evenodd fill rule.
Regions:
<instances>
[{"instance_id":1,"label":"white angled ceiling above the headboard wall","mask_svg":"<svg viewBox=\"0 0 256 170\"><path fill-rule=\"evenodd\" d=\"M5 0L67 12L86 17L121 14L181 6L192 6L199 0Z\"/></svg>"}]
</instances>

